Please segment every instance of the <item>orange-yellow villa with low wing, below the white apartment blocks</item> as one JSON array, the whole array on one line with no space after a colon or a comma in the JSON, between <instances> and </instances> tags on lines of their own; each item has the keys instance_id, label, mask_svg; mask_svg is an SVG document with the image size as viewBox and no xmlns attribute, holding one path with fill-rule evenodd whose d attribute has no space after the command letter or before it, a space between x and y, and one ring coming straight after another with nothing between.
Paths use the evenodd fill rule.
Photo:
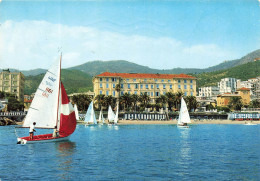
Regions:
<instances>
[{"instance_id":1,"label":"orange-yellow villa with low wing, below the white apartment blocks","mask_svg":"<svg viewBox=\"0 0 260 181\"><path fill-rule=\"evenodd\" d=\"M229 101L232 97L241 97L242 103L244 105L249 105L251 99L250 99L250 89L242 87L240 89L237 89L237 91L232 93L224 93L217 96L217 106L220 107L226 107L229 104Z\"/></svg>"}]
</instances>

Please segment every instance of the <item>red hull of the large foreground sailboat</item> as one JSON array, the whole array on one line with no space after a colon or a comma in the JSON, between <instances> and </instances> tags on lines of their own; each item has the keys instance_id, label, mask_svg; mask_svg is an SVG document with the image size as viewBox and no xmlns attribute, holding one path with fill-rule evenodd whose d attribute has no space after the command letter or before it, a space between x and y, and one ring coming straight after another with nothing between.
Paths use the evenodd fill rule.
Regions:
<instances>
[{"instance_id":1,"label":"red hull of the large foreground sailboat","mask_svg":"<svg viewBox=\"0 0 260 181\"><path fill-rule=\"evenodd\" d=\"M36 135L31 140L29 136L17 138L17 144L34 144L34 143L46 143L46 142L57 142L68 140L69 136L66 137L53 137L52 134Z\"/></svg>"}]
</instances>

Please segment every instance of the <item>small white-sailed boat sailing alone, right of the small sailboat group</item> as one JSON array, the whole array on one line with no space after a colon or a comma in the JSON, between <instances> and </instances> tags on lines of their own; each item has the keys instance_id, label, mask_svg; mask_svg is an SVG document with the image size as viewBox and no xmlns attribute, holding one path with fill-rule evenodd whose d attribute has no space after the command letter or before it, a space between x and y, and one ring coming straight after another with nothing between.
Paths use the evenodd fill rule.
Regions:
<instances>
[{"instance_id":1,"label":"small white-sailed boat sailing alone, right of the small sailboat group","mask_svg":"<svg viewBox=\"0 0 260 181\"><path fill-rule=\"evenodd\" d=\"M177 126L180 127L180 128L181 127L182 128L188 128L189 126L187 125L187 123L191 123L190 115L189 115L189 111L187 109L187 105L186 105L184 99L181 98L181 109L180 109L180 114L179 114Z\"/></svg>"}]
</instances>

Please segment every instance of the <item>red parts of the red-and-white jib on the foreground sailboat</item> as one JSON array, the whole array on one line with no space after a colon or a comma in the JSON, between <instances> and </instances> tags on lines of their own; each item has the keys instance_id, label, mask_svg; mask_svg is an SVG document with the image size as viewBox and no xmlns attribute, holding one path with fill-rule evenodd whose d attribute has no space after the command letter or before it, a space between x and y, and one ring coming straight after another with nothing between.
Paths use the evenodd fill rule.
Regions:
<instances>
[{"instance_id":1,"label":"red parts of the red-and-white jib on the foreground sailboat","mask_svg":"<svg viewBox=\"0 0 260 181\"><path fill-rule=\"evenodd\" d=\"M70 101L62 83L61 83L61 100L63 106L68 106L69 109ZM77 121L76 121L75 111L71 112L69 115L63 115L61 113L60 129L59 129L60 136L65 137L71 135L76 129L76 124Z\"/></svg>"}]
</instances>

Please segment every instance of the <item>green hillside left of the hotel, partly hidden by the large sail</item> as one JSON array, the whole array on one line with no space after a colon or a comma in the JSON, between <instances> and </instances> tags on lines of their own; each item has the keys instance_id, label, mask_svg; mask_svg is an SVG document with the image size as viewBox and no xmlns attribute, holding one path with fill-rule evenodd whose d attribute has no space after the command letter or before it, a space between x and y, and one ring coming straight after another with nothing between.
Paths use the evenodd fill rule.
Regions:
<instances>
[{"instance_id":1,"label":"green hillside left of the hotel, partly hidden by the large sail","mask_svg":"<svg viewBox=\"0 0 260 181\"><path fill-rule=\"evenodd\" d=\"M36 92L44 74L30 75L25 78L24 94L32 94ZM66 88L67 94L74 92L86 92L93 89L92 77L78 70L61 70L61 81Z\"/></svg>"}]
</instances>

